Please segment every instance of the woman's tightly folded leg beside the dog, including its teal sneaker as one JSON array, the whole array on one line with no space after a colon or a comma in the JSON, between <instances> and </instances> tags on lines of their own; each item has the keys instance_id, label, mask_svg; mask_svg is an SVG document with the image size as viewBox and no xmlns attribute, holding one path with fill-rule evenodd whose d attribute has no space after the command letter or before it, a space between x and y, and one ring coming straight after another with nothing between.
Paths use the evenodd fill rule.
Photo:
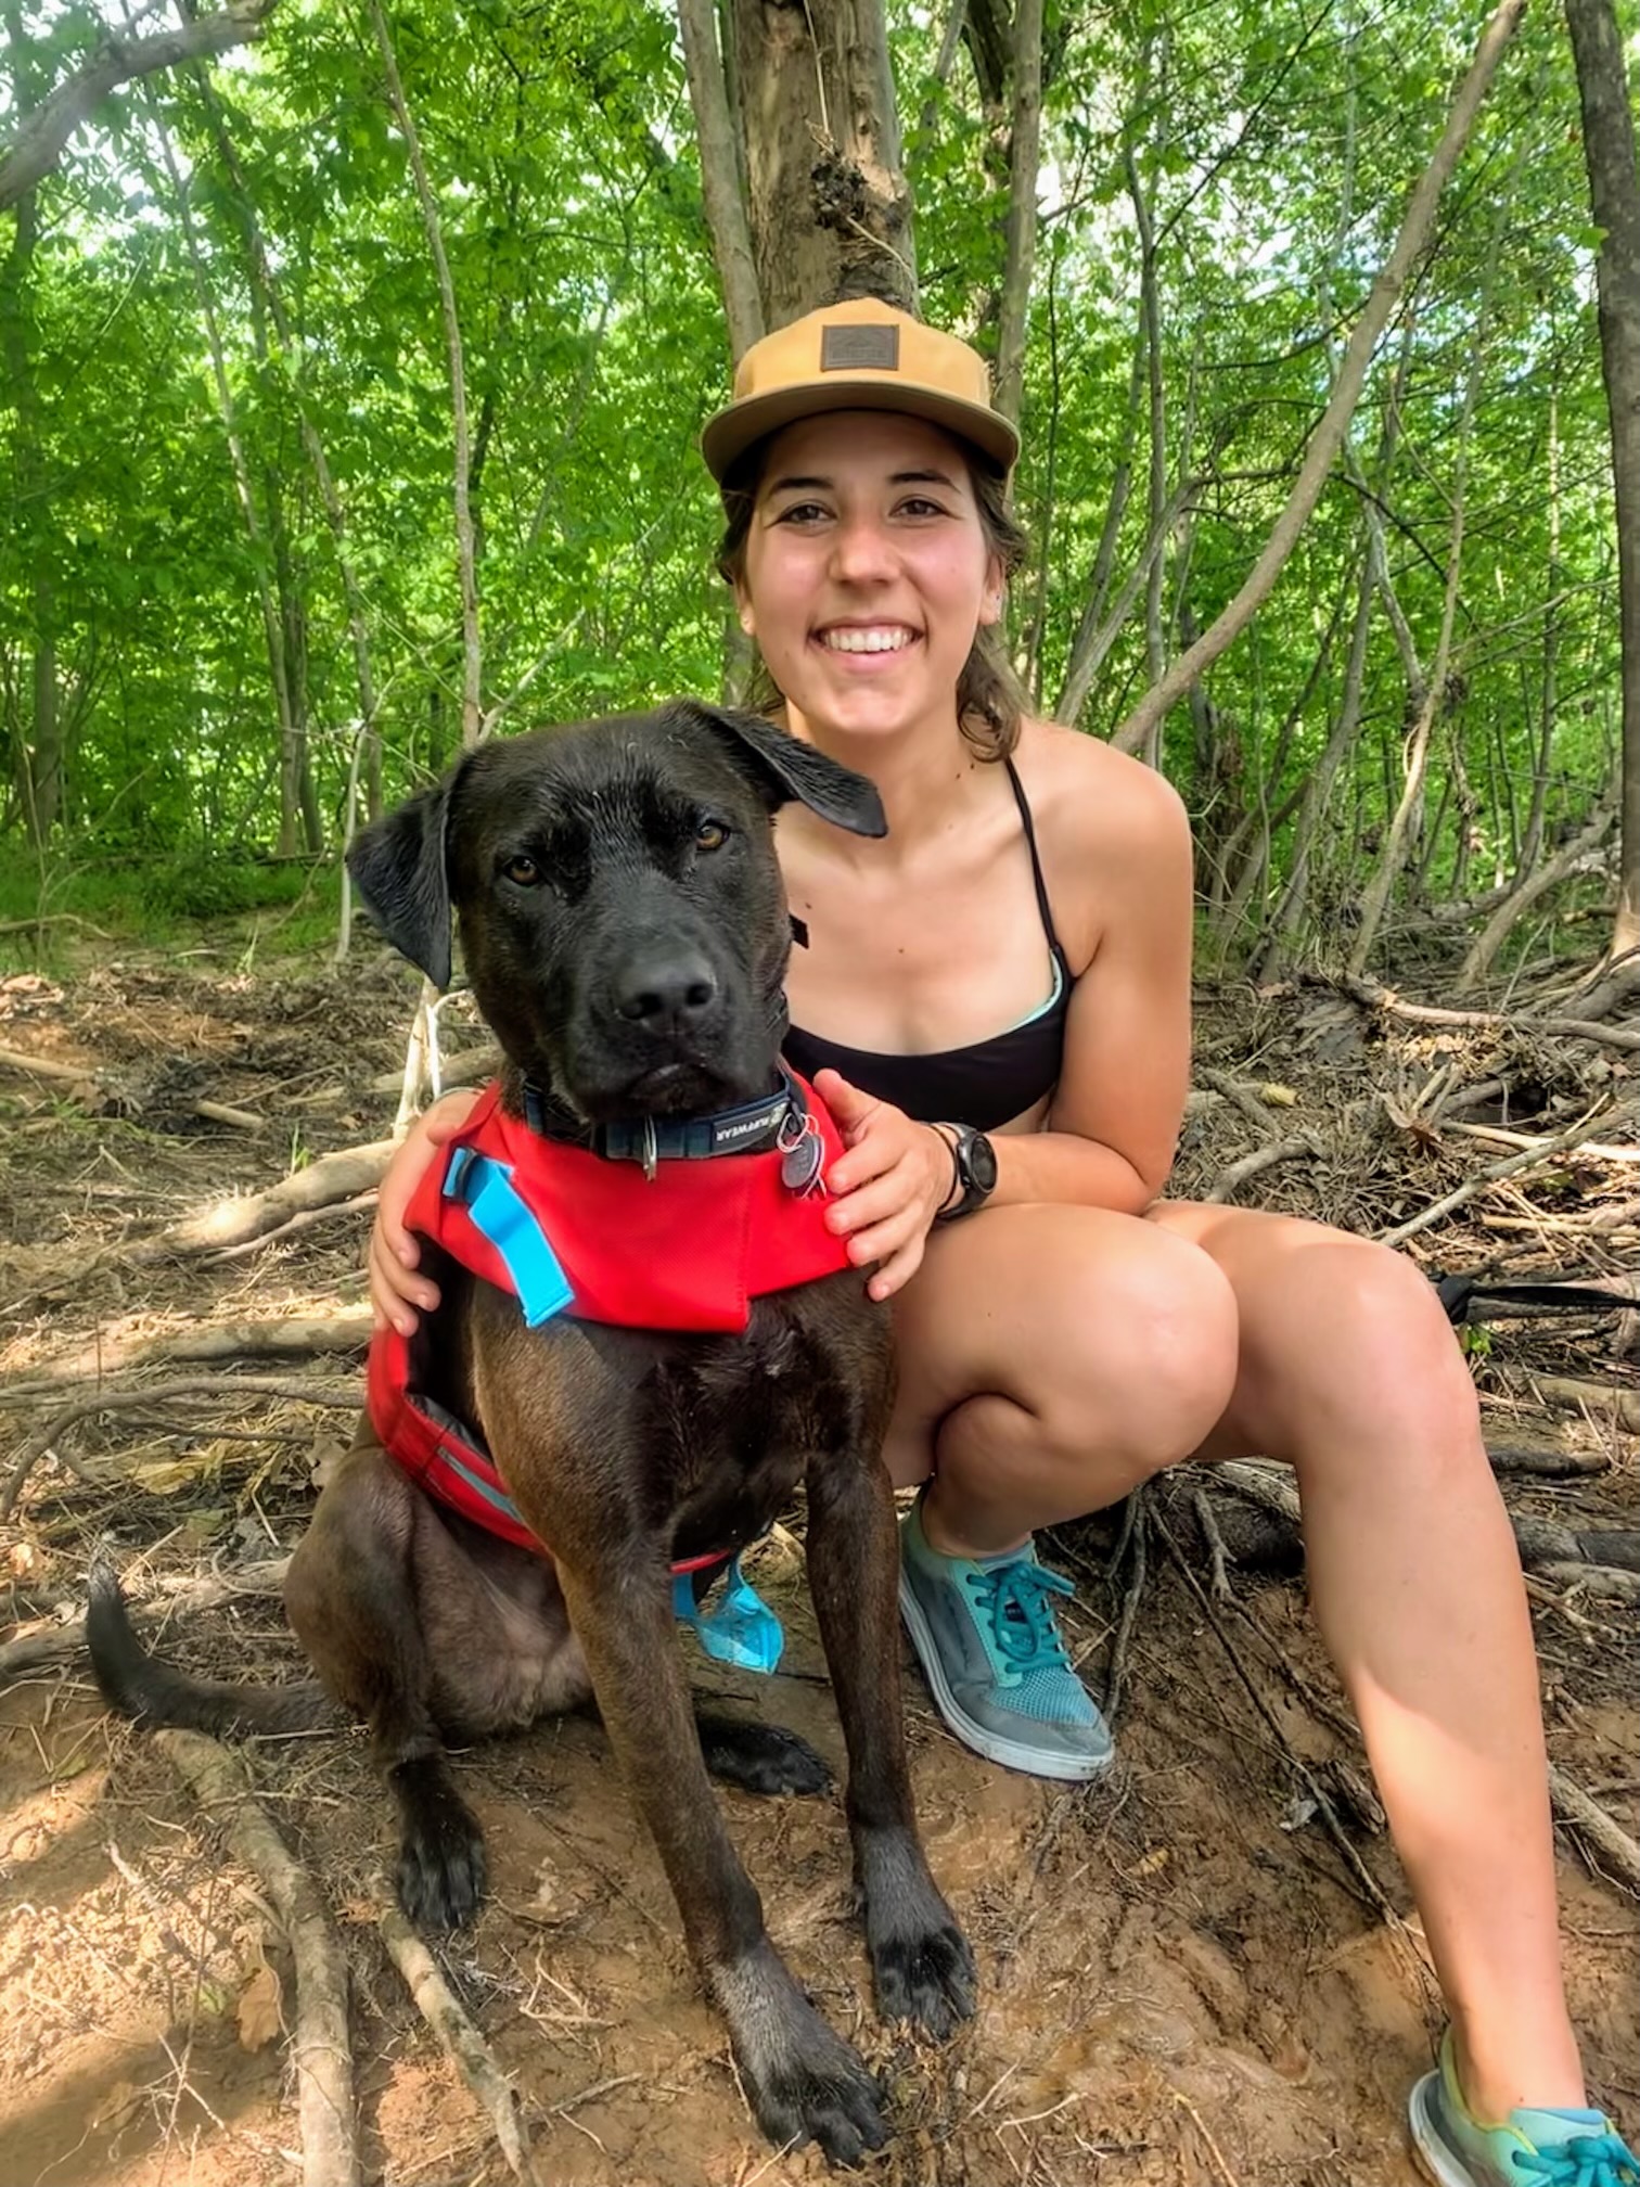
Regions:
<instances>
[{"instance_id":1,"label":"woman's tightly folded leg beside the dog, including its teal sneaker","mask_svg":"<svg viewBox=\"0 0 1640 2187\"><path fill-rule=\"evenodd\" d=\"M934 1701L980 1754L1087 1780L1111 1734L1065 1656L1030 1531L1187 1457L1235 1380L1205 1253L1133 1216L997 1207L940 1231L894 1299L888 1461L934 1474L901 1533L901 1605Z\"/></svg>"}]
</instances>

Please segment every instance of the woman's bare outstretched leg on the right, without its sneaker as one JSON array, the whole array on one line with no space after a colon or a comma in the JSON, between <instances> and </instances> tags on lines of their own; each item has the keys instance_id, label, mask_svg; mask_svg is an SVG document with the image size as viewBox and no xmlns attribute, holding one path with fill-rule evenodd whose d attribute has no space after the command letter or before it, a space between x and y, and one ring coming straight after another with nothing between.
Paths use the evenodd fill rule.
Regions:
<instances>
[{"instance_id":1,"label":"woman's bare outstretched leg on the right, without its sneaker","mask_svg":"<svg viewBox=\"0 0 1640 2187\"><path fill-rule=\"evenodd\" d=\"M1251 1209L1150 1227L1235 1293L1240 1373L1203 1457L1299 1476L1310 1594L1356 1706L1478 2117L1583 2102L1566 2016L1526 1590L1474 1387L1410 1260Z\"/></svg>"}]
</instances>

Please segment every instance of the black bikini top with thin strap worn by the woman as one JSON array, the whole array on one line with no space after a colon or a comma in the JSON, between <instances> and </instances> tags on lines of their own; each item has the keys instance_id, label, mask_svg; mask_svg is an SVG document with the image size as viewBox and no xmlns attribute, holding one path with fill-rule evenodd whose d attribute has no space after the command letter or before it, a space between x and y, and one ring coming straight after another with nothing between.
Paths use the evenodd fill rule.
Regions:
<instances>
[{"instance_id":1,"label":"black bikini top with thin strap worn by the woman","mask_svg":"<svg viewBox=\"0 0 1640 2187\"><path fill-rule=\"evenodd\" d=\"M792 1026L785 1037L785 1059L794 1072L805 1078L813 1078L820 1069L842 1072L862 1094L875 1094L877 1100L892 1102L923 1124L973 1124L975 1131L995 1131L997 1124L1023 1115L1026 1109L1034 1109L1045 1094L1054 1091L1065 1056L1065 1013L1071 1006L1076 978L1054 932L1026 787L1012 759L1004 759L1004 768L1019 807L1019 824L1026 831L1036 910L1054 969L1054 989L1047 1002L988 1041L942 1048L925 1056L881 1056Z\"/></svg>"}]
</instances>

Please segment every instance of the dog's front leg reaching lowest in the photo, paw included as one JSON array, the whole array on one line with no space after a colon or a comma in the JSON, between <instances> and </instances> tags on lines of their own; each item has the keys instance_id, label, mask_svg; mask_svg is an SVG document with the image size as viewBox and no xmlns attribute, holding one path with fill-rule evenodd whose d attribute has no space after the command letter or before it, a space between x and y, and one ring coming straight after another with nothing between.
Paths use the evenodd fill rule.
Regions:
<instances>
[{"instance_id":1,"label":"dog's front leg reaching lowest in the photo, paw included","mask_svg":"<svg viewBox=\"0 0 1640 2187\"><path fill-rule=\"evenodd\" d=\"M660 1564L665 1551L654 1555ZM645 1586L630 1566L593 1577L562 1557L558 1577L610 1745L660 1848L700 1977L728 2023L757 2124L778 2148L813 2139L833 2163L859 2163L888 2141L881 2091L768 1938L757 1887L706 1780L665 1579Z\"/></svg>"}]
</instances>

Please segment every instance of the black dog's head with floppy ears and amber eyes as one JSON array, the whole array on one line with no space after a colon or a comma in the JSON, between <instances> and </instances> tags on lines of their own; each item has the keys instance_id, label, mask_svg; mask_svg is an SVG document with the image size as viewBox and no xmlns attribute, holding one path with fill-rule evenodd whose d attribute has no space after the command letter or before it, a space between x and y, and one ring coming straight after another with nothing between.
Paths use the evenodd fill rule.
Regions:
<instances>
[{"instance_id":1,"label":"black dog's head with floppy ears and amber eyes","mask_svg":"<svg viewBox=\"0 0 1640 2187\"><path fill-rule=\"evenodd\" d=\"M772 814L883 835L875 787L750 713L658 713L483 744L348 866L435 986L450 912L518 1069L588 1122L706 1115L768 1091L792 934Z\"/></svg>"}]
</instances>

